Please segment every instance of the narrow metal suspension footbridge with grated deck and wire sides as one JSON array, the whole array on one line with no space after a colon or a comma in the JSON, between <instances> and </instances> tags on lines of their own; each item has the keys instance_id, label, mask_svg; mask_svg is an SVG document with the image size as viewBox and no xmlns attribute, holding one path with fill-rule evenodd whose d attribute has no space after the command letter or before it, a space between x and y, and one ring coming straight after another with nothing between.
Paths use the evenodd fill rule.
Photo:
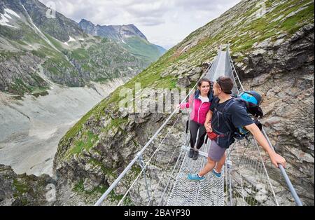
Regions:
<instances>
[{"instance_id":1,"label":"narrow metal suspension footbridge with grated deck and wire sides","mask_svg":"<svg viewBox=\"0 0 315 220\"><path fill-rule=\"evenodd\" d=\"M204 76L211 81L215 81L219 76L229 76L235 83L232 92L239 95L244 91L232 62L229 46L225 51L218 50L214 62L202 74L202 77ZM183 126L179 123L181 115L176 114L176 111L178 110L170 114L94 205L280 205L274 189L275 181L268 174L266 164L271 164L269 156L252 136L237 140L230 146L221 177L209 172L204 181L189 181L187 175L200 172L207 163L210 142L202 146L197 160L189 158L190 135L187 132L174 135L179 126ZM273 149L265 130L262 129L262 133ZM279 169L295 204L302 205L286 171L281 165ZM112 193L123 196L119 201L113 202L109 200Z\"/></svg>"}]
</instances>

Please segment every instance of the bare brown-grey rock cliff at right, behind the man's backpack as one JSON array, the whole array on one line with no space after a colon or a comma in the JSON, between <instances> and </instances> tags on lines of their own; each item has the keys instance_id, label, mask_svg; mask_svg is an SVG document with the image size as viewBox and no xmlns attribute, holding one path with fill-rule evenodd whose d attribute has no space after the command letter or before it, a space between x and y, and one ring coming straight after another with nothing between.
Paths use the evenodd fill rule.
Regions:
<instances>
[{"instance_id":1,"label":"bare brown-grey rock cliff at right, behind the man's backpack","mask_svg":"<svg viewBox=\"0 0 315 220\"><path fill-rule=\"evenodd\" d=\"M237 71L245 88L264 95L262 123L288 160L287 172L301 199L314 205L314 25L277 42L255 46Z\"/></svg>"}]
</instances>

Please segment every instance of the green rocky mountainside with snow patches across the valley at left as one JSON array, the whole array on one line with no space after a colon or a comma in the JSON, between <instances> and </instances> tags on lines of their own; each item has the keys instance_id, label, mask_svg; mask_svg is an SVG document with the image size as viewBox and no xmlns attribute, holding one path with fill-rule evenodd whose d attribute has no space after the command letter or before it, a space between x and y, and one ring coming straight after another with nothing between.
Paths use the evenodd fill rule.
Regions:
<instances>
[{"instance_id":1,"label":"green rocky mountainside with snow patches across the valley at left","mask_svg":"<svg viewBox=\"0 0 315 220\"><path fill-rule=\"evenodd\" d=\"M48 17L49 10L38 0L0 2L1 91L24 95L49 90L39 68L60 85L106 83L135 76L160 56L157 52L150 59L143 58L116 41L85 34L76 22L58 12Z\"/></svg>"}]
</instances>

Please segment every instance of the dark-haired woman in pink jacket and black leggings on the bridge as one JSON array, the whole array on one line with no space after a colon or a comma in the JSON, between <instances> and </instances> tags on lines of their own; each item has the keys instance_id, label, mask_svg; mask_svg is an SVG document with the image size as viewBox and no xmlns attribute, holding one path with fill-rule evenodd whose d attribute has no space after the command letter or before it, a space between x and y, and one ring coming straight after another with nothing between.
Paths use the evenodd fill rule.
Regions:
<instances>
[{"instance_id":1,"label":"dark-haired woman in pink jacket and black leggings on the bridge","mask_svg":"<svg viewBox=\"0 0 315 220\"><path fill-rule=\"evenodd\" d=\"M199 149L204 144L204 137L207 135L204 122L206 121L207 113L210 109L213 99L211 90L211 82L208 78L202 78L197 84L198 90L189 99L189 102L179 105L181 109L192 108L190 114L190 151L189 157L197 160ZM197 138L197 132L199 135Z\"/></svg>"}]
</instances>

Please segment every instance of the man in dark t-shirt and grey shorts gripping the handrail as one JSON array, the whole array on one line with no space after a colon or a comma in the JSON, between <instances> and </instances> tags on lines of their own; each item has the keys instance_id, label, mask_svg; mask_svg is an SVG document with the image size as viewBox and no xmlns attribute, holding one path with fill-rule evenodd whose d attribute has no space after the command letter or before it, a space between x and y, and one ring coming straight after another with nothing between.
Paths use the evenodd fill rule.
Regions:
<instances>
[{"instance_id":1,"label":"man in dark t-shirt and grey shorts gripping the handrail","mask_svg":"<svg viewBox=\"0 0 315 220\"><path fill-rule=\"evenodd\" d=\"M251 132L258 144L267 151L275 167L278 167L278 164L283 165L283 167L286 165L286 160L270 148L267 139L262 135L262 132L257 125L255 125L251 117L248 116L243 106L237 104L237 102L233 104L230 103L231 105L227 111L223 111L226 104L233 102L230 100L232 99L232 88L233 81L229 77L221 76L216 80L216 83L214 83L214 96L216 96L216 98L211 104L204 125L207 128L207 132L214 131L218 137L211 141L207 165L197 174L188 174L188 179L190 180L203 180L204 175L211 172L211 170L213 170L217 177L221 177L221 169L225 163L225 150L233 141L228 135L225 135L230 132L230 129L225 119L223 119L223 114L225 114L225 118L228 118L228 121L230 121L235 128L245 127ZM215 166L216 170L214 170Z\"/></svg>"}]
</instances>

